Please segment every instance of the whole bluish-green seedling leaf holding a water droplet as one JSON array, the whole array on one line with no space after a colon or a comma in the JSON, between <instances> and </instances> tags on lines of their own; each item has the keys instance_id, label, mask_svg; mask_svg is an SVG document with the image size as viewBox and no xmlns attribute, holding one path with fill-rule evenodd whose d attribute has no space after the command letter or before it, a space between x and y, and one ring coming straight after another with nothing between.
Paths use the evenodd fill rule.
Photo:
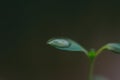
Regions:
<instances>
[{"instance_id":1,"label":"whole bluish-green seedling leaf holding a water droplet","mask_svg":"<svg viewBox=\"0 0 120 80\"><path fill-rule=\"evenodd\" d=\"M80 44L69 38L51 38L47 41L47 44L60 50L81 51L88 54L87 50L85 50Z\"/></svg>"}]
</instances>

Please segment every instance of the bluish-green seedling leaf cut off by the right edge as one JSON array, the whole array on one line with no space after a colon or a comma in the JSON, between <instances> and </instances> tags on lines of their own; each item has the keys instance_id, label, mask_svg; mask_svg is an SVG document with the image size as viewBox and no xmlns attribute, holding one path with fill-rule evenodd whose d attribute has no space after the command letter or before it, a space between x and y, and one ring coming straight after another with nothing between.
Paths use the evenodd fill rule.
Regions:
<instances>
[{"instance_id":1,"label":"bluish-green seedling leaf cut off by the right edge","mask_svg":"<svg viewBox=\"0 0 120 80\"><path fill-rule=\"evenodd\" d=\"M120 43L109 43L106 45L106 49L120 54Z\"/></svg>"}]
</instances>

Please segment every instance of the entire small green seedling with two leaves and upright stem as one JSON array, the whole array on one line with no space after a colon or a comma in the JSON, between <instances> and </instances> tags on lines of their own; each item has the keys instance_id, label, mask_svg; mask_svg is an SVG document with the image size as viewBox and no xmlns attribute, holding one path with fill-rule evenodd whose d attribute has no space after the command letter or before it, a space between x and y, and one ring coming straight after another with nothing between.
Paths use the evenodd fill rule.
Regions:
<instances>
[{"instance_id":1,"label":"entire small green seedling with two leaves and upright stem","mask_svg":"<svg viewBox=\"0 0 120 80\"><path fill-rule=\"evenodd\" d=\"M120 43L108 43L106 45L103 45L97 51L95 51L94 49L87 51L80 44L69 38L52 38L47 41L47 44L64 51L84 52L85 55L90 59L88 80L93 80L93 67L95 59L103 50L109 50L120 54Z\"/></svg>"}]
</instances>

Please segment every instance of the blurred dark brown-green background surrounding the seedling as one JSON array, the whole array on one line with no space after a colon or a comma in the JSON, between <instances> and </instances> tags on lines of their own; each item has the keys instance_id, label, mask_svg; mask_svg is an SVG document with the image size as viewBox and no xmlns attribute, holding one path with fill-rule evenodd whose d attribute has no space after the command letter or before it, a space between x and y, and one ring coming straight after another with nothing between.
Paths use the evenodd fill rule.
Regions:
<instances>
[{"instance_id":1,"label":"blurred dark brown-green background surrounding the seedling","mask_svg":"<svg viewBox=\"0 0 120 80\"><path fill-rule=\"evenodd\" d=\"M83 53L46 45L52 37L69 37L86 49L120 42L119 1L9 0L0 8L1 80L87 80ZM120 79L120 55L104 51L95 75Z\"/></svg>"}]
</instances>

